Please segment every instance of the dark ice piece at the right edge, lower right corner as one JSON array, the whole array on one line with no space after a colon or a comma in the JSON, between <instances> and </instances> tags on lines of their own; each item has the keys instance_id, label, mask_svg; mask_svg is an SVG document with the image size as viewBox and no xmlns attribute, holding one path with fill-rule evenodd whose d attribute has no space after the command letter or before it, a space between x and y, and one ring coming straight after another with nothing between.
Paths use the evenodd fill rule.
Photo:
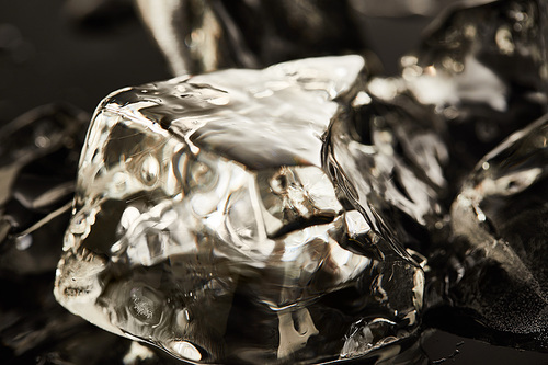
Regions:
<instances>
[{"instance_id":1,"label":"dark ice piece at the right edge, lower right corner","mask_svg":"<svg viewBox=\"0 0 548 365\"><path fill-rule=\"evenodd\" d=\"M510 136L465 181L452 207L456 307L522 347L548 349L548 117ZM470 300L473 298L473 300Z\"/></svg>"}]
</instances>

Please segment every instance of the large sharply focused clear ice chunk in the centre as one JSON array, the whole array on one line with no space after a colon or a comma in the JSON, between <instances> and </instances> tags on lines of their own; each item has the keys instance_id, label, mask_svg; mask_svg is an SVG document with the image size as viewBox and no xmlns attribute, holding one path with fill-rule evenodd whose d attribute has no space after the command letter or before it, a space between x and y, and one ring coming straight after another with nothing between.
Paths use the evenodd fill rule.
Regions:
<instances>
[{"instance_id":1,"label":"large sharply focused clear ice chunk in the centre","mask_svg":"<svg viewBox=\"0 0 548 365\"><path fill-rule=\"evenodd\" d=\"M192 362L354 357L419 324L423 271L330 179L358 56L127 88L82 151L55 296Z\"/></svg>"}]
</instances>

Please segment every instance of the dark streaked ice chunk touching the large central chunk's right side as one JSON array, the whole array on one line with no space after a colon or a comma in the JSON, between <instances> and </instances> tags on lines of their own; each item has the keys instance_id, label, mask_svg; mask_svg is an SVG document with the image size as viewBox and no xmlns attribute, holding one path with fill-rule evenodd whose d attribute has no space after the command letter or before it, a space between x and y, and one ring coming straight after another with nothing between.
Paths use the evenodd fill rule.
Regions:
<instances>
[{"instance_id":1,"label":"dark streaked ice chunk touching the large central chunk's right side","mask_svg":"<svg viewBox=\"0 0 548 365\"><path fill-rule=\"evenodd\" d=\"M330 174L375 231L427 252L427 232L443 220L448 151L420 105L408 109L377 96L363 105L356 100L331 125Z\"/></svg>"}]
</instances>

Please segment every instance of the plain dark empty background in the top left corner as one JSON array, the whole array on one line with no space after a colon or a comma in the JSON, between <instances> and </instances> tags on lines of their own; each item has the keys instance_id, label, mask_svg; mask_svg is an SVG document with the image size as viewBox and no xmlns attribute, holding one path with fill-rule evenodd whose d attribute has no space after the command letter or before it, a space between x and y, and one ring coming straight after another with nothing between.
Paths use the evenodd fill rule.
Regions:
<instances>
[{"instance_id":1,"label":"plain dark empty background in the top left corner","mask_svg":"<svg viewBox=\"0 0 548 365\"><path fill-rule=\"evenodd\" d=\"M0 0L0 122L55 101L91 113L114 90L169 78L130 7L81 19L67 3Z\"/></svg>"}]
</instances>

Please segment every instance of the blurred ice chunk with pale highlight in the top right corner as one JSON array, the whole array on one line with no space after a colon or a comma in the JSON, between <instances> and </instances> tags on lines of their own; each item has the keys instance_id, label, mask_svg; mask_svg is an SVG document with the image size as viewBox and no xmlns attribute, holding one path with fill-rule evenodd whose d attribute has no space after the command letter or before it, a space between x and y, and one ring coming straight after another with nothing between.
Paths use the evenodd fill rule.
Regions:
<instances>
[{"instance_id":1,"label":"blurred ice chunk with pale highlight in the top right corner","mask_svg":"<svg viewBox=\"0 0 548 365\"><path fill-rule=\"evenodd\" d=\"M469 171L547 112L548 9L539 0L459 2L401 60L406 88L447 123L452 169ZM461 176L449 173L450 180Z\"/></svg>"}]
</instances>

